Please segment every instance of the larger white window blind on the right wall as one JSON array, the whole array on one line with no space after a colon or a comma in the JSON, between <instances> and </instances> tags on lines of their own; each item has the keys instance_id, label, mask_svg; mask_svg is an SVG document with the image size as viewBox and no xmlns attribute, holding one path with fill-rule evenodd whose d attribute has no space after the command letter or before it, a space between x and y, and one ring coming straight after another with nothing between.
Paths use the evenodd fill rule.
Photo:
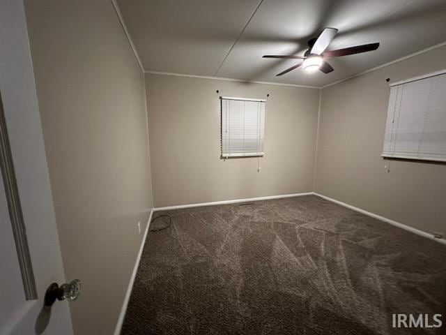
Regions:
<instances>
[{"instance_id":1,"label":"larger white window blind on the right wall","mask_svg":"<svg viewBox=\"0 0 446 335\"><path fill-rule=\"evenodd\" d=\"M390 86L382 156L446 161L446 71Z\"/></svg>"}]
</instances>

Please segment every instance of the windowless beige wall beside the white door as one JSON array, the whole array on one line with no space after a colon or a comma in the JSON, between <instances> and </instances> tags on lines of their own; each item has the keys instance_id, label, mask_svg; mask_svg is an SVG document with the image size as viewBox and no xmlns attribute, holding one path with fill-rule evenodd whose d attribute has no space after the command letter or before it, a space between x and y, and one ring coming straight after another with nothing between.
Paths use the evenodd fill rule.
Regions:
<instances>
[{"instance_id":1,"label":"windowless beige wall beside the white door","mask_svg":"<svg viewBox=\"0 0 446 335\"><path fill-rule=\"evenodd\" d=\"M25 3L75 334L113 334L152 207L144 75L111 1Z\"/></svg>"}]
</instances>

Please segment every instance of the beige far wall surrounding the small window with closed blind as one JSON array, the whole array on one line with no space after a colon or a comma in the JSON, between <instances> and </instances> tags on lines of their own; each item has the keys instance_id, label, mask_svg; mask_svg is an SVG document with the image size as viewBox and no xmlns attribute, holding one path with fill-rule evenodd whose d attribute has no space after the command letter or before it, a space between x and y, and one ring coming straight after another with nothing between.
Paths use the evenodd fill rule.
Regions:
<instances>
[{"instance_id":1,"label":"beige far wall surrounding the small window with closed blind","mask_svg":"<svg viewBox=\"0 0 446 335\"><path fill-rule=\"evenodd\" d=\"M155 207L312 191L320 90L148 74L146 89ZM267 94L261 171L220 159L219 96Z\"/></svg>"}]
</instances>

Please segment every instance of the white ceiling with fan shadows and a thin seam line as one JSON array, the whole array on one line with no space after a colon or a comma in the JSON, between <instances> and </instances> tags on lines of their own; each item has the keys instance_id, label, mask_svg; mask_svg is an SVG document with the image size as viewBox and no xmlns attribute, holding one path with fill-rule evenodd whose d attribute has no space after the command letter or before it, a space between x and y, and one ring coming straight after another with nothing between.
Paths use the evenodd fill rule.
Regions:
<instances>
[{"instance_id":1,"label":"white ceiling with fan shadows and a thin seam line","mask_svg":"<svg viewBox=\"0 0 446 335\"><path fill-rule=\"evenodd\" d=\"M445 0L118 0L118 5L147 71L322 87L446 40ZM374 42L380 47L330 59L332 73L300 68L275 77L299 60L262 55L303 54L307 40L324 27L339 29L328 50Z\"/></svg>"}]
</instances>

